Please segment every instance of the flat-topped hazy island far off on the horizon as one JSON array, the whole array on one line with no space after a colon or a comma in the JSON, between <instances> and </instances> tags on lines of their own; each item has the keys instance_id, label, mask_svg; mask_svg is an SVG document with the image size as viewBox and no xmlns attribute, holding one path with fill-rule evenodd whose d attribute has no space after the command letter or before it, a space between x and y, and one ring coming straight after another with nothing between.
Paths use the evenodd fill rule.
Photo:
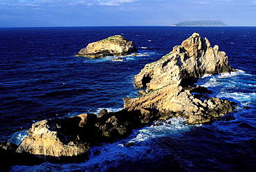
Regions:
<instances>
[{"instance_id":1,"label":"flat-topped hazy island far off on the horizon","mask_svg":"<svg viewBox=\"0 0 256 172\"><path fill-rule=\"evenodd\" d=\"M199 20L199 21L182 21L171 24L170 26L227 26L219 20Z\"/></svg>"}]
</instances>

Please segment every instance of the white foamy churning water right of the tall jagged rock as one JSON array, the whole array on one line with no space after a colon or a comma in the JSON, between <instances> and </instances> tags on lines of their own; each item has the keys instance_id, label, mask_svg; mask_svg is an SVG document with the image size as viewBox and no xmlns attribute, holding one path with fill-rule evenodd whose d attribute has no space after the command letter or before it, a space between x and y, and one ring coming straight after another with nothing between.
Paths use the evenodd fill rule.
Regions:
<instances>
[{"instance_id":1,"label":"white foamy churning water right of the tall jagged rock","mask_svg":"<svg viewBox=\"0 0 256 172\"><path fill-rule=\"evenodd\" d=\"M255 81L248 79L244 70L237 70L232 73L221 73L220 75L205 75L198 80L196 84L213 90L212 96L223 99L230 99L239 102L243 106L247 106L252 102L256 102Z\"/></svg>"}]
</instances>

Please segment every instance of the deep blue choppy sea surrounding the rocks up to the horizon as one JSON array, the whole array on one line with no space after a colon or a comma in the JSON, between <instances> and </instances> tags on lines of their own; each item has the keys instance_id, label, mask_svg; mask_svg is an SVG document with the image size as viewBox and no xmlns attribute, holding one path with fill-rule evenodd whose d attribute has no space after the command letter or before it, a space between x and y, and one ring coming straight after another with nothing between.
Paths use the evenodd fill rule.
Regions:
<instances>
[{"instance_id":1,"label":"deep blue choppy sea surrounding the rocks up to the horizon","mask_svg":"<svg viewBox=\"0 0 256 172\"><path fill-rule=\"evenodd\" d=\"M235 120L193 126L177 117L95 146L87 162L10 171L174 171L174 164L181 171L255 171L256 27L0 28L0 141L19 144L39 120L122 109L122 97L137 96L134 75L193 32L225 51L237 70L198 81L212 96L239 104ZM134 41L143 55L125 61L75 57L87 44L113 35ZM128 142L134 146L124 146Z\"/></svg>"}]
</instances>

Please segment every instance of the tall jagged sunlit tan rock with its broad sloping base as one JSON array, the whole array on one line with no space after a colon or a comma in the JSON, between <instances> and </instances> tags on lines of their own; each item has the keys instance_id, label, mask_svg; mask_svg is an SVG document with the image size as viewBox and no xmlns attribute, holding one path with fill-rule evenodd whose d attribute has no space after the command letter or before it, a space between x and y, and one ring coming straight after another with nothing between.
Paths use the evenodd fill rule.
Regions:
<instances>
[{"instance_id":1,"label":"tall jagged sunlit tan rock with its broad sloping base","mask_svg":"<svg viewBox=\"0 0 256 172\"><path fill-rule=\"evenodd\" d=\"M233 71L225 52L219 46L210 47L208 39L198 33L175 46L158 61L145 65L134 77L138 88L147 88L142 96L124 98L127 111L146 108L167 119L187 117L188 123L210 122L233 110L228 100L198 97L190 92L190 85L205 74L214 75ZM160 118L161 118L160 117Z\"/></svg>"}]
</instances>

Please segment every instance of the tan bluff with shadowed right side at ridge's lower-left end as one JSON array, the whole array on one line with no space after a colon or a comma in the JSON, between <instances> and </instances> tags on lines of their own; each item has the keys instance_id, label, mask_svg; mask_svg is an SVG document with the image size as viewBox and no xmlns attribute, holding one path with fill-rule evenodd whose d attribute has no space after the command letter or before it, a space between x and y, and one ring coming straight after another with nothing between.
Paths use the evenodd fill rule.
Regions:
<instances>
[{"instance_id":1,"label":"tan bluff with shadowed right side at ridge's lower-left end","mask_svg":"<svg viewBox=\"0 0 256 172\"><path fill-rule=\"evenodd\" d=\"M97 137L96 120L94 114L81 114L36 122L16 152L49 157L82 155L89 151Z\"/></svg>"}]
</instances>

